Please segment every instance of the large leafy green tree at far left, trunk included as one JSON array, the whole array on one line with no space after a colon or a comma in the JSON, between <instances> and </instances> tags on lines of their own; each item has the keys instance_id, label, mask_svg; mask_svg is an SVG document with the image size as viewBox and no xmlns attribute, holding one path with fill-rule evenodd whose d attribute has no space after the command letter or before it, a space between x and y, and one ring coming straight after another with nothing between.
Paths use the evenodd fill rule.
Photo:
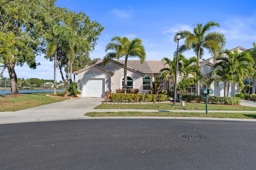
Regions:
<instances>
[{"instance_id":1,"label":"large leafy green tree at far left, trunk included","mask_svg":"<svg viewBox=\"0 0 256 170\"><path fill-rule=\"evenodd\" d=\"M15 65L27 63L35 69L40 52L40 35L55 0L1 0L0 1L0 61L7 69L11 82L10 95L17 95ZM4 44L2 46L2 44Z\"/></svg>"}]
</instances>

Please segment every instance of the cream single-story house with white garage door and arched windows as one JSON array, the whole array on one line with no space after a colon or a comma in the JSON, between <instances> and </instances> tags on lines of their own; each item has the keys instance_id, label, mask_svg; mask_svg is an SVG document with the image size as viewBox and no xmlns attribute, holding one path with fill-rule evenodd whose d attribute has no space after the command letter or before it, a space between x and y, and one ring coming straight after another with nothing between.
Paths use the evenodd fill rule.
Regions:
<instances>
[{"instance_id":1,"label":"cream single-story house with white garage door and arched windows","mask_svg":"<svg viewBox=\"0 0 256 170\"><path fill-rule=\"evenodd\" d=\"M128 60L127 88L138 88L141 93L148 93L164 67L162 61L145 61L141 64L139 60ZM124 61L111 60L104 68L102 60L98 60L74 74L78 76L78 90L82 92L82 97L104 97L106 90L114 93L116 89L124 87ZM167 88L166 82L164 87Z\"/></svg>"}]
</instances>

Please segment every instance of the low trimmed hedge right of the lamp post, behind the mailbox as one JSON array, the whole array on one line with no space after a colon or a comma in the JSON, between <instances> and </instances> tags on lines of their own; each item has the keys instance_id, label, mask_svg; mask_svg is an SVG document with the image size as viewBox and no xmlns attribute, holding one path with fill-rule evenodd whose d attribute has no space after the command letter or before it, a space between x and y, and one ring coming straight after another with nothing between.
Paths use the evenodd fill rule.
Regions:
<instances>
[{"instance_id":1,"label":"low trimmed hedge right of the lamp post, behind the mailbox","mask_svg":"<svg viewBox=\"0 0 256 170\"><path fill-rule=\"evenodd\" d=\"M196 95L183 95L182 101L185 102L204 102L205 97L196 96ZM228 105L239 105L241 102L241 98L238 97L218 97L218 96L209 96L208 104L228 104Z\"/></svg>"}]
</instances>

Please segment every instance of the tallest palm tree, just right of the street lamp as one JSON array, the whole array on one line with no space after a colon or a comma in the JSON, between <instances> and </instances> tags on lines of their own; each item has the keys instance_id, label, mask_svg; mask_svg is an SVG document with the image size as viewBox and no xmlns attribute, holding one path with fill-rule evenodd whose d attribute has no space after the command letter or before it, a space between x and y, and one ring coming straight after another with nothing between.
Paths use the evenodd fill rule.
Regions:
<instances>
[{"instance_id":1,"label":"tallest palm tree, just right of the street lamp","mask_svg":"<svg viewBox=\"0 0 256 170\"><path fill-rule=\"evenodd\" d=\"M180 46L179 51L182 53L192 48L197 55L198 64L204 55L204 49L207 49L211 55L216 56L218 51L220 51L226 44L226 39L223 33L216 31L208 32L214 26L220 27L220 24L215 23L214 21L209 21L204 26L202 23L196 24L193 33L187 30L176 32L181 34L181 39L185 39L185 43ZM177 41L176 36L174 36L174 41ZM199 90L200 81L199 78L197 78L197 93L199 93Z\"/></svg>"}]
</instances>

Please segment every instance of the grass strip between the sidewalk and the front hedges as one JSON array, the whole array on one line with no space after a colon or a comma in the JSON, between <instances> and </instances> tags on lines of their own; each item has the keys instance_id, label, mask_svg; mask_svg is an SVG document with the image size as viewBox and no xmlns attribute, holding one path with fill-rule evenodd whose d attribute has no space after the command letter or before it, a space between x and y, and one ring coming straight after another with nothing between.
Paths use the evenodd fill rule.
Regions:
<instances>
[{"instance_id":1,"label":"grass strip between the sidewalk and the front hedges","mask_svg":"<svg viewBox=\"0 0 256 170\"><path fill-rule=\"evenodd\" d=\"M176 103L179 106L173 106L173 102L170 103L153 103L153 104L101 104L94 109L160 109L160 110L205 110L206 104L185 102L185 106L181 106L181 103ZM256 107L247 106L226 106L208 104L208 110L236 110L236 111L256 111Z\"/></svg>"}]
</instances>

